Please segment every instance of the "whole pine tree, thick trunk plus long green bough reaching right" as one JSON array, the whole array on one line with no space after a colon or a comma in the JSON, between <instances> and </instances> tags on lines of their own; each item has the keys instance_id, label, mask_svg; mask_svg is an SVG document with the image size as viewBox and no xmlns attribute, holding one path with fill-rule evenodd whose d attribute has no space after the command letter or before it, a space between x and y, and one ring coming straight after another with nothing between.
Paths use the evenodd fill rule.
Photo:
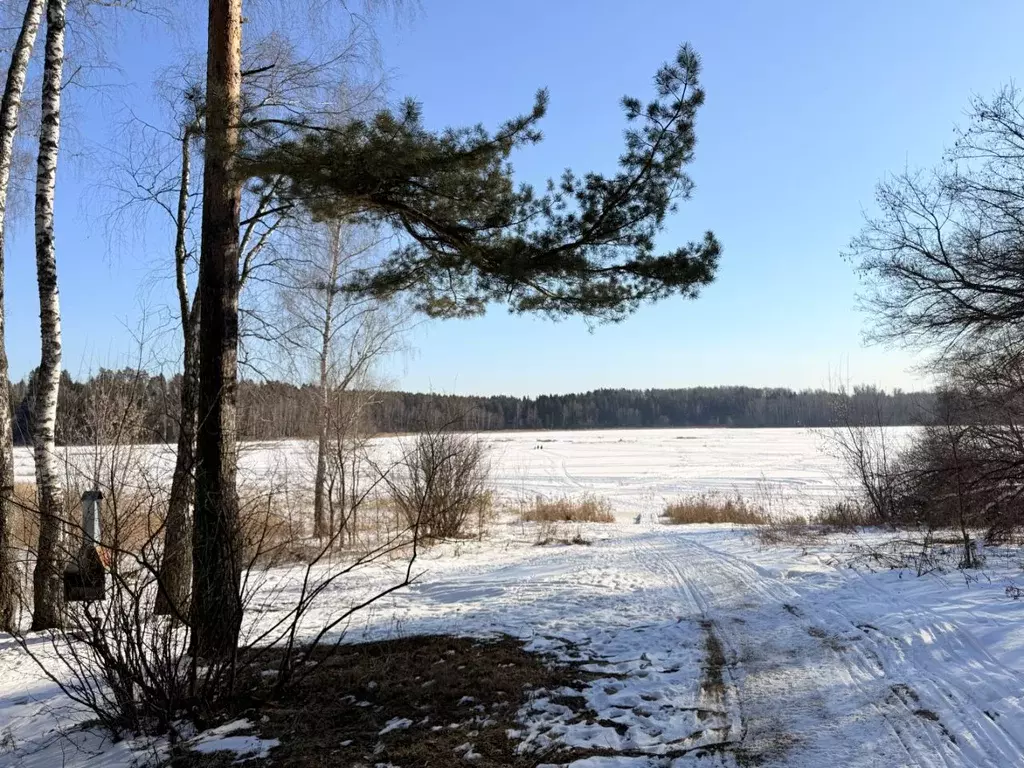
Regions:
<instances>
[{"instance_id":1,"label":"whole pine tree, thick trunk plus long green bough reaching right","mask_svg":"<svg viewBox=\"0 0 1024 768\"><path fill-rule=\"evenodd\" d=\"M518 312L621 319L641 303L693 297L715 275L711 232L665 254L654 238L689 197L683 168L703 102L699 60L688 46L655 77L657 98L626 98L620 169L607 177L566 171L541 196L516 186L512 152L540 140L547 95L489 134L433 132L420 109L337 126L305 125L291 137L239 143L242 0L211 0L200 264L200 426L194 532L193 631L200 654L234 650L242 622L236 493L239 203L256 178L314 217L359 216L404 236L378 267L341 287L362 295L408 293L432 316Z\"/></svg>"}]
</instances>

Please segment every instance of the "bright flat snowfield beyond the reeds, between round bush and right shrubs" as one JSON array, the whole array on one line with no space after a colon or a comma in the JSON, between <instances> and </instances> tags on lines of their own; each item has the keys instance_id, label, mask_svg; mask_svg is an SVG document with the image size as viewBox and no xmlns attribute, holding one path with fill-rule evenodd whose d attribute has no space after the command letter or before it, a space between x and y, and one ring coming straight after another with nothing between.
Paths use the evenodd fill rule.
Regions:
<instances>
[{"instance_id":1,"label":"bright flat snowfield beyond the reeds, between round bush and right shrubs","mask_svg":"<svg viewBox=\"0 0 1024 768\"><path fill-rule=\"evenodd\" d=\"M893 430L899 439L908 429ZM594 493L624 521L701 493L811 512L849 481L808 429L647 429L484 434L506 498Z\"/></svg>"}]
</instances>

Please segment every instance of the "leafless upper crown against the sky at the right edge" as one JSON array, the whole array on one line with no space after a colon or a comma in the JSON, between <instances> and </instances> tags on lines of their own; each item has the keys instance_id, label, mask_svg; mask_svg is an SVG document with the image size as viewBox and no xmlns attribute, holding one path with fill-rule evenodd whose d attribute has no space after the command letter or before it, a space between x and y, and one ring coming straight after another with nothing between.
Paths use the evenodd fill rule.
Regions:
<instances>
[{"instance_id":1,"label":"leafless upper crown against the sky at the right edge","mask_svg":"<svg viewBox=\"0 0 1024 768\"><path fill-rule=\"evenodd\" d=\"M955 345L1024 319L1024 97L971 104L944 162L879 184L850 249L879 338Z\"/></svg>"}]
</instances>

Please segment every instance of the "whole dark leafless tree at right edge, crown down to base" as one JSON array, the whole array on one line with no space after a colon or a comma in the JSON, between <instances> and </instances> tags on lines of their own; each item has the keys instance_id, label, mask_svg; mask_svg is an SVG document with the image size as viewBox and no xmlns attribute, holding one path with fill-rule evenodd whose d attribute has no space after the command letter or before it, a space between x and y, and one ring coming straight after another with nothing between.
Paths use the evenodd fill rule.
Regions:
<instances>
[{"instance_id":1,"label":"whole dark leafless tree at right edge, crown down to base","mask_svg":"<svg viewBox=\"0 0 1024 768\"><path fill-rule=\"evenodd\" d=\"M1022 519L1024 439L1024 96L1015 86L971 102L967 128L931 172L881 183L879 213L853 240L873 334L928 351L944 392L902 458L911 506L990 539Z\"/></svg>"}]
</instances>

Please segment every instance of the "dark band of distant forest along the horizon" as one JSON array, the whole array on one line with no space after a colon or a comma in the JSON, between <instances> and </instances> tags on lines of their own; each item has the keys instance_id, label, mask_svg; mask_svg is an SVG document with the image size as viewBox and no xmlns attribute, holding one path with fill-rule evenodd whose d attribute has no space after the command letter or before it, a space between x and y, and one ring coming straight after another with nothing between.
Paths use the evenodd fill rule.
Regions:
<instances>
[{"instance_id":1,"label":"dark band of distant forest along the horizon","mask_svg":"<svg viewBox=\"0 0 1024 768\"><path fill-rule=\"evenodd\" d=\"M117 420L126 393L138 402L139 434L154 441L177 438L180 377L133 370L100 371L75 381L65 373L57 415L57 441L90 442L105 433L99 422ZM32 441L34 380L14 384L15 441ZM246 439L309 437L316 434L316 390L281 381L240 382L239 428ZM849 395L825 390L757 387L686 389L598 389L539 397L463 396L379 392L366 411L371 431L413 432L456 423L460 428L597 429L616 427L826 427L849 415L863 423L921 424L934 395L857 387Z\"/></svg>"}]
</instances>

